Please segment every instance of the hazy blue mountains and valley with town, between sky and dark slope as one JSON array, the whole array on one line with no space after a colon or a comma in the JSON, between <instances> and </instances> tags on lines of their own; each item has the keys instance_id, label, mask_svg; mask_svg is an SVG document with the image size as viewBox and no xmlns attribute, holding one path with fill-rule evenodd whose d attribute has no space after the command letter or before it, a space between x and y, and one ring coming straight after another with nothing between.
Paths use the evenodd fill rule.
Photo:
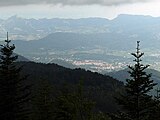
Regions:
<instances>
[{"instance_id":1,"label":"hazy blue mountains and valley with town, between sky and dark slope","mask_svg":"<svg viewBox=\"0 0 160 120\"><path fill-rule=\"evenodd\" d=\"M113 20L36 20L13 16L0 20L1 40L5 39L6 31L16 45L15 52L32 61L64 60L73 66L101 73L132 64L130 53L135 51L136 41L140 40L145 53L143 62L160 70L159 17L119 15ZM32 40L27 41L29 39Z\"/></svg>"}]
</instances>

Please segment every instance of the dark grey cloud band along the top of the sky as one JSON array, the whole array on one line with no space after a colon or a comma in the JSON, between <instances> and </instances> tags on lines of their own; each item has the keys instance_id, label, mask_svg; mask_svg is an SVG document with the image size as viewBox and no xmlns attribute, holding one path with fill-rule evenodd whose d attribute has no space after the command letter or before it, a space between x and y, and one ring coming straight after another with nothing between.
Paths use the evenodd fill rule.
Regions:
<instances>
[{"instance_id":1,"label":"dark grey cloud band along the top of the sky","mask_svg":"<svg viewBox=\"0 0 160 120\"><path fill-rule=\"evenodd\" d=\"M29 4L62 4L62 5L119 5L125 3L146 2L150 0L0 0L0 6Z\"/></svg>"}]
</instances>

